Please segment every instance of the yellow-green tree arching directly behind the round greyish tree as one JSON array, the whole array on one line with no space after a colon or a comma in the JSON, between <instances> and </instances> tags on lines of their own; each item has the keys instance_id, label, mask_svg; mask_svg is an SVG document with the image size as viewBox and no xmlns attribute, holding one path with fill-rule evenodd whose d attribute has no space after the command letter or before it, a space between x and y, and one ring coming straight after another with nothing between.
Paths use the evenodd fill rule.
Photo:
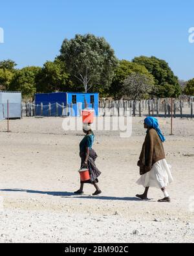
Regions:
<instances>
[{"instance_id":1,"label":"yellow-green tree arching directly behind the round greyish tree","mask_svg":"<svg viewBox=\"0 0 194 256\"><path fill-rule=\"evenodd\" d=\"M127 60L121 60L114 73L113 82L109 88L109 94L113 96L114 99L122 98L124 80L132 73L145 75L150 79L150 84L154 84L154 77L147 71L146 67Z\"/></svg>"}]
</instances>

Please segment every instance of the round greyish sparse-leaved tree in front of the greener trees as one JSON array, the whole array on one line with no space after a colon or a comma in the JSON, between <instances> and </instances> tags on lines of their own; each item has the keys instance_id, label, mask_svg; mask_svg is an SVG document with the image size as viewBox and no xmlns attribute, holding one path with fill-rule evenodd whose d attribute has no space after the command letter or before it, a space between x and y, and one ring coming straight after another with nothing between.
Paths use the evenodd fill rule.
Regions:
<instances>
[{"instance_id":1,"label":"round greyish sparse-leaved tree in front of the greener trees","mask_svg":"<svg viewBox=\"0 0 194 256\"><path fill-rule=\"evenodd\" d=\"M146 75L139 73L131 73L125 80L123 91L124 95L132 100L144 99L145 95L152 89L152 80Z\"/></svg>"}]
</instances>

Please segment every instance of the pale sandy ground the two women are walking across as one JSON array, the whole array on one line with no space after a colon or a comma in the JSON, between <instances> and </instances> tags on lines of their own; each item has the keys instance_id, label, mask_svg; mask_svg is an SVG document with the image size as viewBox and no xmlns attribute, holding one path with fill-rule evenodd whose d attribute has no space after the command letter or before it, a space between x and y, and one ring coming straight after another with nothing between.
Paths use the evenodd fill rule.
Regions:
<instances>
[{"instance_id":1,"label":"pale sandy ground the two women are walking across","mask_svg":"<svg viewBox=\"0 0 194 256\"><path fill-rule=\"evenodd\" d=\"M171 204L135 198L143 188L136 162L144 141L143 118L133 118L133 135L96 132L100 196L78 189L81 132L65 132L61 118L24 118L0 127L0 242L194 242L194 119L160 119L166 158L175 179Z\"/></svg>"}]
</instances>

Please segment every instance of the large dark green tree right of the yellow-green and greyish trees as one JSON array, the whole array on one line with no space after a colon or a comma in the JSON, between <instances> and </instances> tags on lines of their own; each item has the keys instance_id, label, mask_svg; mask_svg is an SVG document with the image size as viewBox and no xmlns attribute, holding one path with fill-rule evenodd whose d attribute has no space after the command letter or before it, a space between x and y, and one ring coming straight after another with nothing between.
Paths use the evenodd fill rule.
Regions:
<instances>
[{"instance_id":1,"label":"large dark green tree right of the yellow-green and greyish trees","mask_svg":"<svg viewBox=\"0 0 194 256\"><path fill-rule=\"evenodd\" d=\"M150 58L146 56L140 56L134 58L133 62L136 64L144 65L149 73L155 77L155 96L160 97L160 95L164 95L164 91L166 91L169 86L171 86L173 89L169 90L169 94L166 91L166 97L178 97L180 95L181 87L178 83L178 78L174 75L173 71L165 60L160 60L154 56ZM174 93L172 94L173 90Z\"/></svg>"}]
</instances>

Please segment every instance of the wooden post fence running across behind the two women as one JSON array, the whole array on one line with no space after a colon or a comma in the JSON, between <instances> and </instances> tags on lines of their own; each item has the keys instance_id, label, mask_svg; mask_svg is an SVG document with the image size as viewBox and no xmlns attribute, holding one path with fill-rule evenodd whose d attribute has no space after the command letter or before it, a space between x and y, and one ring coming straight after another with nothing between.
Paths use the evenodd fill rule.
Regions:
<instances>
[{"instance_id":1,"label":"wooden post fence running across behind the two women","mask_svg":"<svg viewBox=\"0 0 194 256\"><path fill-rule=\"evenodd\" d=\"M100 116L133 115L141 117L149 115L155 117L190 117L193 118L193 98L190 100L153 99L153 100L101 100L99 102ZM88 104L92 108L92 104ZM22 116L80 116L82 104L54 104L34 105L33 103L22 104Z\"/></svg>"}]
</instances>

